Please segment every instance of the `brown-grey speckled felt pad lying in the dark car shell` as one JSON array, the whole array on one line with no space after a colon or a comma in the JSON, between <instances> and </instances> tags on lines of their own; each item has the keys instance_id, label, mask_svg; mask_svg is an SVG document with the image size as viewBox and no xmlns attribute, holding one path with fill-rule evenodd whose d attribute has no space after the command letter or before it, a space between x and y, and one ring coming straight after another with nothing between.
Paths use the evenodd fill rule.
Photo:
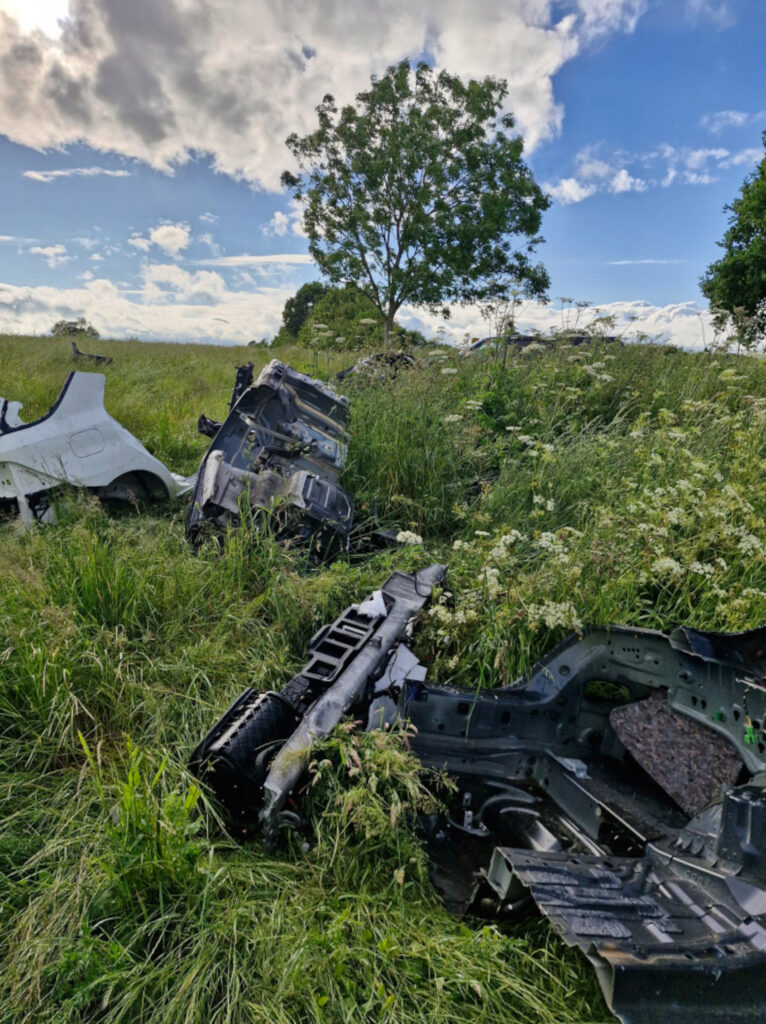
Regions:
<instances>
[{"instance_id":1,"label":"brown-grey speckled felt pad lying in the dark car shell","mask_svg":"<svg viewBox=\"0 0 766 1024\"><path fill-rule=\"evenodd\" d=\"M612 709L609 722L644 771L692 816L720 795L721 786L733 785L742 769L731 743L673 711L664 690Z\"/></svg>"}]
</instances>

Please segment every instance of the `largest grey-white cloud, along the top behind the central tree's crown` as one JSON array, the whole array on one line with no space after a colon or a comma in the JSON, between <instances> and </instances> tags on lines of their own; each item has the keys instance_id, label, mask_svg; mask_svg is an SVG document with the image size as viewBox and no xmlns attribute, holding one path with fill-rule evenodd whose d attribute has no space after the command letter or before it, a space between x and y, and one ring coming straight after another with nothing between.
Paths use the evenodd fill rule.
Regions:
<instances>
[{"instance_id":1,"label":"largest grey-white cloud, along the top behind the central tree's crown","mask_svg":"<svg viewBox=\"0 0 766 1024\"><path fill-rule=\"evenodd\" d=\"M172 172L216 170L269 188L292 131L327 92L349 101L416 53L462 76L507 78L527 150L563 110L553 76L596 37L631 32L645 0L71 0L59 35L0 11L0 132L44 150L84 141Z\"/></svg>"}]
</instances>

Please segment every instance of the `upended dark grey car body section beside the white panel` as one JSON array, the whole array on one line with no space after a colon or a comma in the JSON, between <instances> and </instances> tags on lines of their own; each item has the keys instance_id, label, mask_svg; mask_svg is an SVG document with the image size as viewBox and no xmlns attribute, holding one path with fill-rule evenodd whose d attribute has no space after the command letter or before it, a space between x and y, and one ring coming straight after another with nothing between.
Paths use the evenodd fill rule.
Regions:
<instances>
[{"instance_id":1,"label":"upended dark grey car body section beside the white panel","mask_svg":"<svg viewBox=\"0 0 766 1024\"><path fill-rule=\"evenodd\" d=\"M252 379L252 366L239 368L224 422L207 421L217 429L200 466L186 535L197 540L206 521L225 529L245 509L256 519L276 510L281 536L329 557L347 546L353 517L351 497L338 484L348 399L278 359L254 384L244 383L248 369Z\"/></svg>"}]
</instances>

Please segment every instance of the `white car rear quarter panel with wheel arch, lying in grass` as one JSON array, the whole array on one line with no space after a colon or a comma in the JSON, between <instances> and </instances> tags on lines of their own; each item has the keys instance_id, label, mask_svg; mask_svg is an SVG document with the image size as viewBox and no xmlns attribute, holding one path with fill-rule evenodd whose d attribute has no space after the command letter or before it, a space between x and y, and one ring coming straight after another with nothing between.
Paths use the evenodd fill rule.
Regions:
<instances>
[{"instance_id":1,"label":"white car rear quarter panel with wheel arch, lying in grass","mask_svg":"<svg viewBox=\"0 0 766 1024\"><path fill-rule=\"evenodd\" d=\"M52 522L50 492L87 487L99 498L141 501L190 489L103 407L102 374L71 373L48 412L32 423L20 402L0 398L0 510Z\"/></svg>"}]
</instances>

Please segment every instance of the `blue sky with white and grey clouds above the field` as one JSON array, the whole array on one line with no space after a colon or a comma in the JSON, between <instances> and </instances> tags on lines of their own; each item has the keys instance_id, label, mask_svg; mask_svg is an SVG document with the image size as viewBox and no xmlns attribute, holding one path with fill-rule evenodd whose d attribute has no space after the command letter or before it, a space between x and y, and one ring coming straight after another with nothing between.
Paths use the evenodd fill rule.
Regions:
<instances>
[{"instance_id":1,"label":"blue sky with white and grey clouds above the field","mask_svg":"<svg viewBox=\"0 0 766 1024\"><path fill-rule=\"evenodd\" d=\"M0 332L275 334L320 276L285 139L409 57L508 81L552 198L551 301L521 329L601 313L699 347L699 276L765 155L764 53L766 0L0 0ZM487 333L472 307L399 321Z\"/></svg>"}]
</instances>

